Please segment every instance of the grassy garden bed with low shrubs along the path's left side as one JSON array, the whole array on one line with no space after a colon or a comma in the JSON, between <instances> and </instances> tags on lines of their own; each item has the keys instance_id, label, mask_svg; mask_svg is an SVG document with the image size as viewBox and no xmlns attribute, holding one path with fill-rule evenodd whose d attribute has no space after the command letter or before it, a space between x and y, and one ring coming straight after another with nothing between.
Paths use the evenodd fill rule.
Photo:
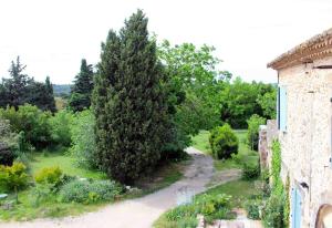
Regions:
<instances>
[{"instance_id":1,"label":"grassy garden bed with low shrubs along the path's left side","mask_svg":"<svg viewBox=\"0 0 332 228\"><path fill-rule=\"evenodd\" d=\"M1 193L9 193L3 205L11 205L9 209L0 208L1 220L74 216L122 198L141 197L180 179L184 166L190 162L164 165L154 176L138 180L136 190L124 191L124 187L108 180L105 173L77 166L75 157L64 151L34 152L28 158L28 183L19 190L20 204L14 203L13 190L0 188ZM75 185L81 188L74 189Z\"/></svg>"}]
</instances>

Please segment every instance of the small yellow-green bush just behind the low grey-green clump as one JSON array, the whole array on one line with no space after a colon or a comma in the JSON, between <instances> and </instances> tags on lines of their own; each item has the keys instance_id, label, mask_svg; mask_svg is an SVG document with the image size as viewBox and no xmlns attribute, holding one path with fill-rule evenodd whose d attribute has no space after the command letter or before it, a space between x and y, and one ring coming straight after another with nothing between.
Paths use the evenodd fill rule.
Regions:
<instances>
[{"instance_id":1,"label":"small yellow-green bush just behind the low grey-green clump","mask_svg":"<svg viewBox=\"0 0 332 228\"><path fill-rule=\"evenodd\" d=\"M37 173L34 179L38 184L59 185L62 178L62 170L59 167L43 168Z\"/></svg>"}]
</instances>

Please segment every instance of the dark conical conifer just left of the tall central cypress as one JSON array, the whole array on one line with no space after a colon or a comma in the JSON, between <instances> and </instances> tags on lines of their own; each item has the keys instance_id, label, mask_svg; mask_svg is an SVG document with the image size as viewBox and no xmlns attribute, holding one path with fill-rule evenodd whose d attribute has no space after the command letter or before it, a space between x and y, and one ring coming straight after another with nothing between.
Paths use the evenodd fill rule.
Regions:
<instances>
[{"instance_id":1,"label":"dark conical conifer just left of the tall central cypress","mask_svg":"<svg viewBox=\"0 0 332 228\"><path fill-rule=\"evenodd\" d=\"M81 71L75 76L74 85L71 89L70 106L74 112L89 108L91 105L91 93L93 90L93 69L83 59Z\"/></svg>"}]
</instances>

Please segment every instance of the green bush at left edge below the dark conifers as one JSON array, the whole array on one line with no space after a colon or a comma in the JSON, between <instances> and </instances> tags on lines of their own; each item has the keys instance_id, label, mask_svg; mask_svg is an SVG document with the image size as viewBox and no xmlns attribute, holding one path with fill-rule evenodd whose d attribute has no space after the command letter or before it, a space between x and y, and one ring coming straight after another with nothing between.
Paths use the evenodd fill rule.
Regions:
<instances>
[{"instance_id":1,"label":"green bush at left edge below the dark conifers","mask_svg":"<svg viewBox=\"0 0 332 228\"><path fill-rule=\"evenodd\" d=\"M0 117L9 120L11 128L15 133L24 132L24 139L35 148L43 148L50 145L51 129L48 112L42 112L37 106L25 104L14 107L0 108Z\"/></svg>"}]
</instances>

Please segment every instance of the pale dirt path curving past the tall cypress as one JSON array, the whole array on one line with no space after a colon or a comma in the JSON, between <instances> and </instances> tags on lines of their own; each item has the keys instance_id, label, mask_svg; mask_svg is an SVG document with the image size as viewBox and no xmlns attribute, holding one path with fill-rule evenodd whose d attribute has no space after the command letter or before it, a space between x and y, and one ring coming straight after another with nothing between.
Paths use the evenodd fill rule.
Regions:
<instances>
[{"instance_id":1,"label":"pale dirt path curving past the tall cypress","mask_svg":"<svg viewBox=\"0 0 332 228\"><path fill-rule=\"evenodd\" d=\"M0 228L148 228L167 209L176 206L178 191L189 188L198 194L206 189L214 175L212 158L189 147L194 157L185 177L154 194L104 207L94 213L62 219L37 219L27 222L0 224Z\"/></svg>"}]
</instances>

